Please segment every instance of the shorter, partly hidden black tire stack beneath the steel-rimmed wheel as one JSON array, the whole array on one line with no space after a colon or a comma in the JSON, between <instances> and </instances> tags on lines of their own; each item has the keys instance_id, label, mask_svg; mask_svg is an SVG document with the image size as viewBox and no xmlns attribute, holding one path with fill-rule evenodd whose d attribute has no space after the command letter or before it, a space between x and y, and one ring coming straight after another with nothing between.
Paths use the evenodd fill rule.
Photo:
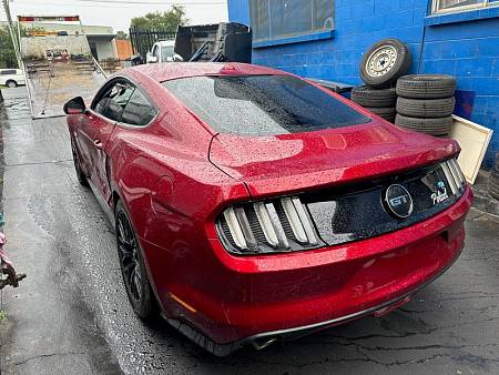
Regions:
<instances>
[{"instance_id":1,"label":"shorter, partly hidden black tire stack beneath the steel-rimmed wheel","mask_svg":"<svg viewBox=\"0 0 499 375\"><path fill-rule=\"evenodd\" d=\"M352 101L368 111L384 118L389 122L395 121L395 104L397 93L395 89L373 89L368 85L360 85L352 90Z\"/></svg>"}]
</instances>

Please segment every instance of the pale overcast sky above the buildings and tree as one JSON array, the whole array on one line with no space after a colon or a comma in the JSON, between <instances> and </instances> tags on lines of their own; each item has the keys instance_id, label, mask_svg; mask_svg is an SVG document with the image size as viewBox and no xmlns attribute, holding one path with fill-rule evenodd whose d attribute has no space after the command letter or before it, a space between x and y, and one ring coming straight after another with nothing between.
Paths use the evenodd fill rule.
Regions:
<instances>
[{"instance_id":1,"label":"pale overcast sky above the buildings and tree","mask_svg":"<svg viewBox=\"0 0 499 375\"><path fill-rule=\"evenodd\" d=\"M192 24L227 20L226 0L13 0L10 10L12 18L18 14L80 14L83 24L110 26L116 32L128 31L133 17L169 10L172 3L185 7ZM6 20L3 9L0 20Z\"/></svg>"}]
</instances>

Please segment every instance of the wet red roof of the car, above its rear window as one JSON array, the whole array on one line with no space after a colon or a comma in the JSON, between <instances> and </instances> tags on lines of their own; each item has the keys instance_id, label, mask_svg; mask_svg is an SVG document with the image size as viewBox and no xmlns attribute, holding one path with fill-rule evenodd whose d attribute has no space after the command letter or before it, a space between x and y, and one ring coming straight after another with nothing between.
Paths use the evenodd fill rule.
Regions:
<instances>
[{"instance_id":1,"label":"wet red roof of the car, above its rear window","mask_svg":"<svg viewBox=\"0 0 499 375\"><path fill-rule=\"evenodd\" d=\"M157 82L201 75L287 74L281 70L241 62L166 62L160 64L138 65L130 68L129 70L132 74L145 75Z\"/></svg>"}]
</instances>

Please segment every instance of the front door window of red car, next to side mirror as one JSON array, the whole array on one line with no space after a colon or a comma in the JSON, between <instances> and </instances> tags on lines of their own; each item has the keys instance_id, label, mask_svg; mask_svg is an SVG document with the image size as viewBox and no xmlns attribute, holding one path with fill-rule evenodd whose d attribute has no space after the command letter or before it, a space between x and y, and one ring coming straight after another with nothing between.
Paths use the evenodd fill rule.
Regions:
<instances>
[{"instance_id":1,"label":"front door window of red car, next to side mirror","mask_svg":"<svg viewBox=\"0 0 499 375\"><path fill-rule=\"evenodd\" d=\"M113 121L121 121L123 110L133 94L135 87L128 82L116 82L108 89L104 89L99 97L94 111Z\"/></svg>"}]
</instances>

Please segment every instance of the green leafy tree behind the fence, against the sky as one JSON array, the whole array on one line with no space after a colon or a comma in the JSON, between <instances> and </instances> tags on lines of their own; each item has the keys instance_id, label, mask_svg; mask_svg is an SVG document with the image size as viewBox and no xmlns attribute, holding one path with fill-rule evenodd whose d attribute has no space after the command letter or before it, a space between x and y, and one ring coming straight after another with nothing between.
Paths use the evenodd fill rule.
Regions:
<instances>
[{"instance_id":1,"label":"green leafy tree behind the fence, against the sky","mask_svg":"<svg viewBox=\"0 0 499 375\"><path fill-rule=\"evenodd\" d=\"M132 18L131 27L142 30L163 30L175 32L179 24L187 23L185 9L182 6L172 6L165 12L152 12L143 17Z\"/></svg>"}]
</instances>

